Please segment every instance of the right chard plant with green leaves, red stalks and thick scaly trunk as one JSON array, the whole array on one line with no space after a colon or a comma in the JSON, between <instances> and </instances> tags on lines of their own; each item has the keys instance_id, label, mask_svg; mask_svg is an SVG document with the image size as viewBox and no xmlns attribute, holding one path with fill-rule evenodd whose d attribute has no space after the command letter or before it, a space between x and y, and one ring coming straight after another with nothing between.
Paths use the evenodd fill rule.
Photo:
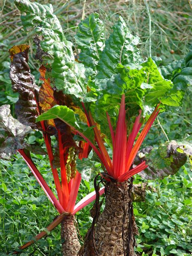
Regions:
<instances>
[{"instance_id":1,"label":"right chard plant with green leaves, red stalks and thick scaly trunk","mask_svg":"<svg viewBox=\"0 0 192 256\"><path fill-rule=\"evenodd\" d=\"M96 100L87 102L84 100L86 96L79 97L88 125L79 122L78 113L66 106L55 106L38 116L36 121L59 118L70 126L92 147L96 154L93 160L100 162L102 167L98 173L107 181L105 209L96 218L96 225L93 222L79 255L134 255L134 235L138 231L130 192L132 176L146 171L149 177L149 170L152 174L156 168L154 161L153 166L148 166L151 161L147 156L146 159L140 158L137 164L135 159L158 113L168 110L170 106L181 106L185 90L181 92L179 87L175 89L170 80L164 79L152 58L145 61L141 58L136 46L139 39L130 34L122 18L113 27L104 50L99 51L96 58L92 51L97 44L94 48L90 47L91 26L87 26L92 16L81 21L81 33L76 36L81 48L81 62L86 63L92 56L91 65L96 74L89 83L90 89L97 94ZM102 27L100 29L102 35ZM84 47L86 36L87 48ZM97 40L101 39L97 37ZM178 100L175 93L181 96ZM175 151L167 151L172 158ZM176 156L177 160L181 157ZM165 159L165 162L168 161ZM177 170L184 162L186 153L182 155L180 164L177 162ZM94 161L90 159L77 161L77 170L82 175L90 172L90 169L94 171L93 166ZM160 175L157 173L154 178L174 173L172 167L168 168L169 172L166 172L166 168L160 169Z\"/></svg>"}]
</instances>

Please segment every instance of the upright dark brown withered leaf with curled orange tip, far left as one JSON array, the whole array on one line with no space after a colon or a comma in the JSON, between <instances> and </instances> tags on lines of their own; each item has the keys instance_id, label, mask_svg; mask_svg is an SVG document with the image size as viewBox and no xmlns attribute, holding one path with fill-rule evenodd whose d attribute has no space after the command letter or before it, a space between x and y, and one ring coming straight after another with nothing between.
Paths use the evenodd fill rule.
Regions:
<instances>
[{"instance_id":1,"label":"upright dark brown withered leaf with curled orange tip, far left","mask_svg":"<svg viewBox=\"0 0 192 256\"><path fill-rule=\"evenodd\" d=\"M9 49L11 66L10 79L14 92L19 93L19 100L15 105L15 113L21 124L38 128L35 119L38 116L37 85L30 73L28 65L29 45L15 45ZM38 96L37 96L38 97Z\"/></svg>"}]
</instances>

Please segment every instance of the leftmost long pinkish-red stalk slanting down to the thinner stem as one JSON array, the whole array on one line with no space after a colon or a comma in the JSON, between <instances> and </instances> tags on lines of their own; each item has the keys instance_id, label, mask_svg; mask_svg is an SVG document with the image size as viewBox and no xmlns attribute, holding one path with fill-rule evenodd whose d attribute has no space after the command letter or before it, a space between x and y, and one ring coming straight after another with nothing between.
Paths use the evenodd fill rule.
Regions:
<instances>
[{"instance_id":1,"label":"leftmost long pinkish-red stalk slanting down to the thinner stem","mask_svg":"<svg viewBox=\"0 0 192 256\"><path fill-rule=\"evenodd\" d=\"M36 168L32 159L26 155L23 149L18 149L18 152L21 154L22 158L25 160L26 164L29 166L30 170L32 171L33 175L35 176L36 180L40 184L41 188L43 188L45 194L48 196L51 203L55 206L59 213L64 212L62 205L59 203L49 186L47 185L46 181L41 176L41 173Z\"/></svg>"}]
</instances>

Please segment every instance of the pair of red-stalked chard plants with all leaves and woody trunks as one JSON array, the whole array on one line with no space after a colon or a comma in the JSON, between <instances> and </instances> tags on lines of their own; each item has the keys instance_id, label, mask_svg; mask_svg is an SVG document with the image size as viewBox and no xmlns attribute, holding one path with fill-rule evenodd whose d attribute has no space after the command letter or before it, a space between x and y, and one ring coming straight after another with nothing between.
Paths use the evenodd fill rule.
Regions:
<instances>
[{"instance_id":1,"label":"pair of red-stalked chard plants with all leaves and woody trunks","mask_svg":"<svg viewBox=\"0 0 192 256\"><path fill-rule=\"evenodd\" d=\"M71 245L63 245L63 255L78 253L71 218L95 198L92 228L79 255L134 255L138 231L132 209L132 176L139 173L145 179L156 179L174 174L192 154L190 137L139 151L158 113L182 106L192 83L192 51L181 61L159 67L159 58L143 58L137 48L139 37L130 34L122 17L105 40L104 24L98 13L92 13L79 24L75 40L80 53L75 58L51 4L28 0L15 4L26 13L21 15L24 29L32 27L36 32L43 84L38 88L30 75L29 47L12 47L10 77L13 90L19 92L15 109L21 123L10 116L8 106L2 107L7 113L1 129L2 154L13 154L13 149L21 154L61 214L55 223L65 219L70 226L70 236L62 229L65 244ZM22 137L19 130L10 130L9 119L19 125ZM58 199L32 161L30 151L44 153L25 143L29 127L43 132ZM14 147L7 147L9 140ZM94 153L88 158L91 149ZM91 172L100 175L105 188L99 191L95 179L96 192L75 205L81 175L87 178ZM104 190L105 209L99 215L98 196Z\"/></svg>"}]
</instances>

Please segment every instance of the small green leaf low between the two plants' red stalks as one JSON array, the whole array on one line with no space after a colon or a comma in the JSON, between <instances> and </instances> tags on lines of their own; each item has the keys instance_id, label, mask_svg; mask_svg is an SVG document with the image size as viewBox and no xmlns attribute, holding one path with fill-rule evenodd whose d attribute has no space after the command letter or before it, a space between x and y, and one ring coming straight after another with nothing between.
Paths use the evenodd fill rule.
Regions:
<instances>
[{"instance_id":1,"label":"small green leaf low between the two plants' red stalks","mask_svg":"<svg viewBox=\"0 0 192 256\"><path fill-rule=\"evenodd\" d=\"M101 164L99 162L83 158L77 159L77 171L81 173L82 179L89 181L94 178L98 173L102 172Z\"/></svg>"}]
</instances>

